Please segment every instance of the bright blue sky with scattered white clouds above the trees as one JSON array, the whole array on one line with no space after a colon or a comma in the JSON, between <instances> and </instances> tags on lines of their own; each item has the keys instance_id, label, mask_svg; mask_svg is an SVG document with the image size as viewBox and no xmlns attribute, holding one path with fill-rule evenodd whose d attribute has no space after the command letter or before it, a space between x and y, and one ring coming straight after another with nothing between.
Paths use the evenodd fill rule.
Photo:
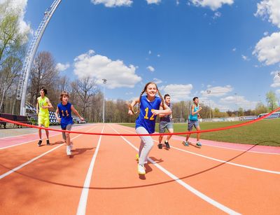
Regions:
<instances>
[{"instance_id":1,"label":"bright blue sky with scattered white clouds above the trees","mask_svg":"<svg viewBox=\"0 0 280 215\"><path fill-rule=\"evenodd\" d=\"M10 1L32 36L53 0ZM106 99L154 81L173 102L255 109L269 90L280 97L279 28L279 0L62 0L38 51L71 80L95 78Z\"/></svg>"}]
</instances>

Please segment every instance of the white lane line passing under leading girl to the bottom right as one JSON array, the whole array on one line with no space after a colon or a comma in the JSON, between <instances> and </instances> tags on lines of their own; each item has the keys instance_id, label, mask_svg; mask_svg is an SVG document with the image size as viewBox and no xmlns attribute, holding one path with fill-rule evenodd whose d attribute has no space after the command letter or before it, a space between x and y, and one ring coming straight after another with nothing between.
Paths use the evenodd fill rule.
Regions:
<instances>
[{"instance_id":1,"label":"white lane line passing under leading girl to the bottom right","mask_svg":"<svg viewBox=\"0 0 280 215\"><path fill-rule=\"evenodd\" d=\"M111 125L109 125L111 127ZM113 127L111 127L113 129ZM115 130L115 129L113 129ZM120 134L118 131L115 130L116 133ZM130 146L132 146L132 148L134 148L136 151L138 151L138 148L135 147L130 141L128 141L127 139L125 139L125 137L120 136L123 138L123 140L125 140L127 142L127 144L129 144ZM216 202L215 200L211 199L211 197L208 197L207 195L204 195L203 193L201 193L200 191L196 190L195 188L193 188L192 186L188 185L188 183L185 183L184 181L182 181L181 179L179 179L177 176L175 176L174 174L172 174L171 172L169 172L167 169L165 169L164 167L162 167L161 165L159 165L158 163L156 163L153 159L148 158L148 160L153 163L153 165L155 165L155 167L158 167L158 169L160 169L162 172L164 172L165 174L167 174L170 178L174 179L174 181L176 181L177 183L179 183L181 186L183 186L184 188L186 188L187 190L189 190L191 193L197 195L198 197L202 198L202 200L208 202L209 204L212 204L214 207L217 207L218 209L221 209L222 211L225 211L225 213L228 214L239 214L237 211L234 211L232 209L230 209L229 207L226 207L225 205Z\"/></svg>"}]
</instances>

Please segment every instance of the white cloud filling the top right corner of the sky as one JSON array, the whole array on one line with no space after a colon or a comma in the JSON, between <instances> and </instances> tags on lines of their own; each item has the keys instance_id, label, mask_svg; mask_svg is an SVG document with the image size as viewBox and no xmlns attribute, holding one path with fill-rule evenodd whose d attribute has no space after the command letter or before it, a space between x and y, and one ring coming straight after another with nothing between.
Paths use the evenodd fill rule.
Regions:
<instances>
[{"instance_id":1,"label":"white cloud filling the top right corner of the sky","mask_svg":"<svg viewBox=\"0 0 280 215\"><path fill-rule=\"evenodd\" d=\"M268 19L272 24L280 27L280 1L263 0L258 3L258 11L254 14L264 19Z\"/></svg>"}]
</instances>

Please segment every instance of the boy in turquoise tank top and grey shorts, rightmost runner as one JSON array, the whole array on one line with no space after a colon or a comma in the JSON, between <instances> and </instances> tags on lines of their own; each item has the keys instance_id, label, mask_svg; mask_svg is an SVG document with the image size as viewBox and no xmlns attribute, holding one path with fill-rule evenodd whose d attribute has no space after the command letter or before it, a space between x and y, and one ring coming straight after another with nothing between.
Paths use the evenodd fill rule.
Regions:
<instances>
[{"instance_id":1,"label":"boy in turquoise tank top and grey shorts, rightmost runner","mask_svg":"<svg viewBox=\"0 0 280 215\"><path fill-rule=\"evenodd\" d=\"M198 123L198 118L200 118L200 111L202 107L199 105L198 97L193 98L193 105L191 109L190 116L188 117L188 131L190 132L193 130L193 126L196 128L197 131L200 131L200 124ZM186 141L183 141L184 146L189 146L188 139L190 138L190 134L187 134ZM197 133L197 144L198 147L201 147L200 144L200 133Z\"/></svg>"}]
</instances>

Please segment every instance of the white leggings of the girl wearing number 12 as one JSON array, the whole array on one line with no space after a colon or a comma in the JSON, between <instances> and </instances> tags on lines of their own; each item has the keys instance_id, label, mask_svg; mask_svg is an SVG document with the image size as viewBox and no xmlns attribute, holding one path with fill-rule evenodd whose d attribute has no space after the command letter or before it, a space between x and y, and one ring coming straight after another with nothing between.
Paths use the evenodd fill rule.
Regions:
<instances>
[{"instance_id":1,"label":"white leggings of the girl wearing number 12","mask_svg":"<svg viewBox=\"0 0 280 215\"><path fill-rule=\"evenodd\" d=\"M137 134L148 134L144 127L137 127ZM151 136L140 136L141 140L144 142L141 148L141 155L139 154L139 165L144 165L148 161L148 153L153 148L153 139Z\"/></svg>"}]
</instances>

